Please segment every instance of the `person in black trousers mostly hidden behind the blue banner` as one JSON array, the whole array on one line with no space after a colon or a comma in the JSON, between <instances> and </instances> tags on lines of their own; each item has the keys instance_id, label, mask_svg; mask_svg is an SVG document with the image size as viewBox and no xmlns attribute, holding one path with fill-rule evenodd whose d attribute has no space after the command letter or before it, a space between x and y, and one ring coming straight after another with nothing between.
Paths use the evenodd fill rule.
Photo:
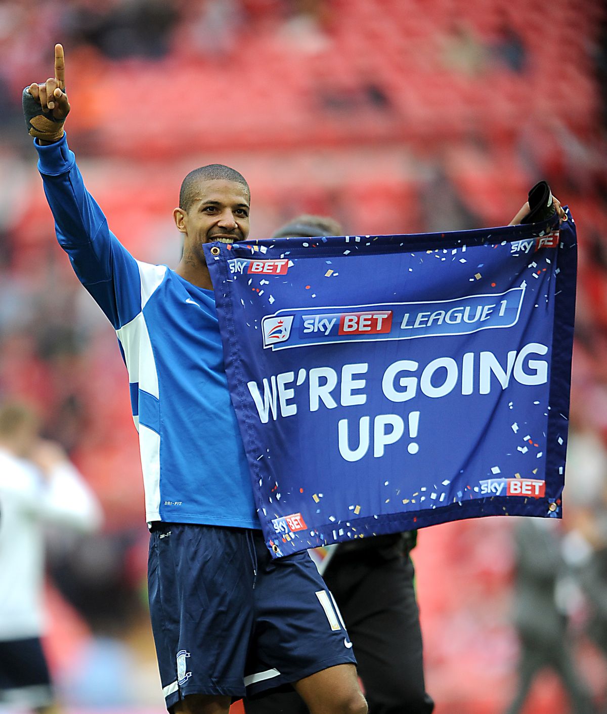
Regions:
<instances>
[{"instance_id":1,"label":"person in black trousers mostly hidden behind the blue banner","mask_svg":"<svg viewBox=\"0 0 607 714\"><path fill-rule=\"evenodd\" d=\"M556 201L559 213L562 209ZM518 223L528 203L513 218ZM333 218L301 215L279 228L275 238L342 236ZM426 693L419 611L409 553L416 531L353 539L332 545L319 570L336 600L358 659L358 674L371 714L430 713ZM326 548L318 549L321 553ZM271 693L245 700L247 714L304 714L295 693Z\"/></svg>"}]
</instances>

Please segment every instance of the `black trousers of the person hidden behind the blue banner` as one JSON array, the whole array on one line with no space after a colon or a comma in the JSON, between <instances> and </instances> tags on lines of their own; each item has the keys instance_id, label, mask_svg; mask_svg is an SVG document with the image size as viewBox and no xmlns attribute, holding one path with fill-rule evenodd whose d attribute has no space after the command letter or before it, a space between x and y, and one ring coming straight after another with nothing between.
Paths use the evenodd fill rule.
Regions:
<instances>
[{"instance_id":1,"label":"black trousers of the person hidden behind the blue banner","mask_svg":"<svg viewBox=\"0 0 607 714\"><path fill-rule=\"evenodd\" d=\"M341 610L358 660L369 714L430 714L423 682L419 613L408 555L336 553L324 579ZM244 700L246 714L306 714L291 690Z\"/></svg>"}]
</instances>

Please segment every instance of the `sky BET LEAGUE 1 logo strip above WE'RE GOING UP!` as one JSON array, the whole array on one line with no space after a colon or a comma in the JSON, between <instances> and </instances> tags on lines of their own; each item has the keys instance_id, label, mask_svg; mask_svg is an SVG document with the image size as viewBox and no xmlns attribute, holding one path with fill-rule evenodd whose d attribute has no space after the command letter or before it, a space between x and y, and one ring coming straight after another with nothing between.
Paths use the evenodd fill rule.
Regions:
<instances>
[{"instance_id":1,"label":"sky BET LEAGUE 1 logo strip above WE'RE GOING UP!","mask_svg":"<svg viewBox=\"0 0 607 714\"><path fill-rule=\"evenodd\" d=\"M512 327L518 321L524 295L522 286L496 295L441 301L281 310L261 320L264 348L274 351L318 343L406 340Z\"/></svg>"}]
</instances>

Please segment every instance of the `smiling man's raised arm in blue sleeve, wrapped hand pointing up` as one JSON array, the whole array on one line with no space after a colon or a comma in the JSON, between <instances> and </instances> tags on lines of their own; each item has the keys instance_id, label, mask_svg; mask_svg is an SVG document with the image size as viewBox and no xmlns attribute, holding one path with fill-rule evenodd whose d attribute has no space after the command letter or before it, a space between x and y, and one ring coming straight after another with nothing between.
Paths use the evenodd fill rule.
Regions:
<instances>
[{"instance_id":1,"label":"smiling man's raised arm in blue sleeve, wrapped hand pointing up","mask_svg":"<svg viewBox=\"0 0 607 714\"><path fill-rule=\"evenodd\" d=\"M26 126L39 154L38 169L59 245L69 254L76 276L118 329L141 310L139 266L109 230L67 146L64 122L70 105L60 44L55 46L54 75L24 89Z\"/></svg>"}]
</instances>

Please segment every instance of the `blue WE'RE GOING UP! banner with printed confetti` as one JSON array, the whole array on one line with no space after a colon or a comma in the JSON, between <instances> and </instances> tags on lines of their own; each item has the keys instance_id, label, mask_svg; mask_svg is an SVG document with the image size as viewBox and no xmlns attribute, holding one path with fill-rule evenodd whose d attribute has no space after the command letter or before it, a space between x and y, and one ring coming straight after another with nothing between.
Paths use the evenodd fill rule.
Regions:
<instances>
[{"instance_id":1,"label":"blue WE'RE GOING UP! banner with printed confetti","mask_svg":"<svg viewBox=\"0 0 607 714\"><path fill-rule=\"evenodd\" d=\"M561 516L568 221L204 246L275 557L476 516Z\"/></svg>"}]
</instances>

